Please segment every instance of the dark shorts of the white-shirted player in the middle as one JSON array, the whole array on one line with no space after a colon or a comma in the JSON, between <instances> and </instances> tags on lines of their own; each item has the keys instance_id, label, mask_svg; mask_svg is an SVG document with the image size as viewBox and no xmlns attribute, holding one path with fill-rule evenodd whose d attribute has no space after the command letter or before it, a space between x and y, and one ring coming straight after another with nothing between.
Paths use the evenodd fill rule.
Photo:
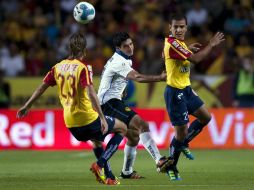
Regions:
<instances>
[{"instance_id":1,"label":"dark shorts of the white-shirted player in the middle","mask_svg":"<svg viewBox=\"0 0 254 190\"><path fill-rule=\"evenodd\" d=\"M105 115L117 118L129 127L131 119L137 114L124 104L122 100L111 99L101 105L101 109Z\"/></svg>"}]
</instances>

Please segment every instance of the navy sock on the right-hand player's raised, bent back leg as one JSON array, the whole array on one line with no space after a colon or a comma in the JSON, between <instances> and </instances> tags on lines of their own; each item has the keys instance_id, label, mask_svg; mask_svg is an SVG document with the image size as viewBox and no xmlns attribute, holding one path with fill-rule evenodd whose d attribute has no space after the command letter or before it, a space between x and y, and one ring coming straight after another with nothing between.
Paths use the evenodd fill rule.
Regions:
<instances>
[{"instance_id":1,"label":"navy sock on the right-hand player's raised, bent back leg","mask_svg":"<svg viewBox=\"0 0 254 190\"><path fill-rule=\"evenodd\" d=\"M188 143L202 131L204 126L205 125L200 123L197 119L190 124L187 137L184 141L185 146L188 146Z\"/></svg>"}]
</instances>

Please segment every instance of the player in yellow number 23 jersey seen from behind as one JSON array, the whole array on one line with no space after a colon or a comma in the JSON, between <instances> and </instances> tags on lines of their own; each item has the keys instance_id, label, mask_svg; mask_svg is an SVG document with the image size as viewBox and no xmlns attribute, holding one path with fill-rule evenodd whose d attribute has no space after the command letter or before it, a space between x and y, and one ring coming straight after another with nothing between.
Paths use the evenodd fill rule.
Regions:
<instances>
[{"instance_id":1,"label":"player in yellow number 23 jersey seen from behind","mask_svg":"<svg viewBox=\"0 0 254 190\"><path fill-rule=\"evenodd\" d=\"M121 121L104 116L93 87L92 70L84 62L86 39L82 34L73 34L69 41L70 56L57 63L46 75L42 84L30 99L18 111L17 117L27 115L32 104L49 86L57 86L58 95L64 111L66 127L79 141L102 142L109 133L115 135L102 150L97 162L91 165L91 171L97 181L107 185L118 185L118 180L107 179L102 168L117 151L118 145L126 135L127 127Z\"/></svg>"}]
</instances>

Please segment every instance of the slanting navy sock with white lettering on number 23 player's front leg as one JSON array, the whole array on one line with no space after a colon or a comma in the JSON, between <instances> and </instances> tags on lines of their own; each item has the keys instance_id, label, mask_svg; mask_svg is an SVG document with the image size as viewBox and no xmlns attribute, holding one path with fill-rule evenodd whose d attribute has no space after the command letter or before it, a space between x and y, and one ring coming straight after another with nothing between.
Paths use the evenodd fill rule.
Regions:
<instances>
[{"instance_id":1,"label":"slanting navy sock with white lettering on number 23 player's front leg","mask_svg":"<svg viewBox=\"0 0 254 190\"><path fill-rule=\"evenodd\" d=\"M108 142L105 151L102 156L97 161L97 164L103 168L107 161L113 156L113 154L117 151L118 145L123 140L123 137L120 134L115 134L110 141Z\"/></svg>"}]
</instances>

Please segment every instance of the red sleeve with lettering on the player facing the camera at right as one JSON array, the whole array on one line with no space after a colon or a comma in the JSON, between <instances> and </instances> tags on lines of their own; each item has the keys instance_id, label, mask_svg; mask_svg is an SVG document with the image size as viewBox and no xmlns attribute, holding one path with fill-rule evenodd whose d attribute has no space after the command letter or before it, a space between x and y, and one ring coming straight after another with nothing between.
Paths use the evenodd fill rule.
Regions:
<instances>
[{"instance_id":1,"label":"red sleeve with lettering on the player facing the camera at right","mask_svg":"<svg viewBox=\"0 0 254 190\"><path fill-rule=\"evenodd\" d=\"M168 38L168 42L170 43L170 58L185 60L192 55L192 52L180 44L175 38Z\"/></svg>"}]
</instances>

